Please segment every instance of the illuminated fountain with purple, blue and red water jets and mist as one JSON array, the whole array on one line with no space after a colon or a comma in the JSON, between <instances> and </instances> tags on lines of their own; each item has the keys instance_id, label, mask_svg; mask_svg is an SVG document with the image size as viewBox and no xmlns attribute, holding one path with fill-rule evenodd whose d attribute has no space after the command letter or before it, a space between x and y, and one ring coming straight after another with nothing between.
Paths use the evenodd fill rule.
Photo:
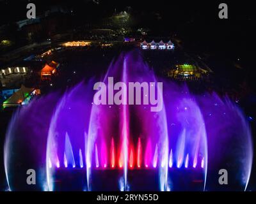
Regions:
<instances>
[{"instance_id":1,"label":"illuminated fountain with purple, blue and red water jets and mist","mask_svg":"<svg viewBox=\"0 0 256 204\"><path fill-rule=\"evenodd\" d=\"M93 85L99 81L108 85L107 105L93 103ZM145 82L134 93L143 104L114 103L116 82L127 87ZM154 99L163 97L159 112L144 103L153 93ZM252 136L243 113L228 99L190 94L158 78L140 53L130 52L113 61L100 80L49 94L17 111L6 134L4 166L14 191L211 191L218 189L221 168L236 178L221 190L244 190L252 168ZM30 168L38 172L38 182L28 187L22 183L26 179L17 180Z\"/></svg>"}]
</instances>

